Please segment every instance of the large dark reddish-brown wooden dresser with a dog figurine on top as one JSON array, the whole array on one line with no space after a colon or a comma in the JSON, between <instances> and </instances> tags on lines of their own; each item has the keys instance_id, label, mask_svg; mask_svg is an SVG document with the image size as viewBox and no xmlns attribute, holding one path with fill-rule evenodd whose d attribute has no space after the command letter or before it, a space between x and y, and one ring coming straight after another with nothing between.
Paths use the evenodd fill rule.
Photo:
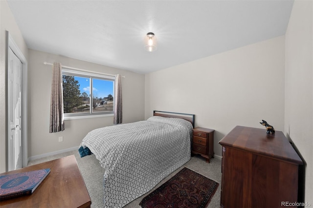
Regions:
<instances>
[{"instance_id":1,"label":"large dark reddish-brown wooden dresser with a dog figurine on top","mask_svg":"<svg viewBox=\"0 0 313 208\"><path fill-rule=\"evenodd\" d=\"M303 162L283 132L236 126L220 142L222 208L279 208L297 202Z\"/></svg>"}]
</instances>

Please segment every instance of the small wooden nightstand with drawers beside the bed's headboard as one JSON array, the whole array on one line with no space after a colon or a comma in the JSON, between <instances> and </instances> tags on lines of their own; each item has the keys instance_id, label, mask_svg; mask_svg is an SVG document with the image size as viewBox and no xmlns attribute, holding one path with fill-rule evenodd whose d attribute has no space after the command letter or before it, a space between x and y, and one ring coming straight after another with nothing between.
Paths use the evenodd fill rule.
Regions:
<instances>
[{"instance_id":1,"label":"small wooden nightstand with drawers beside the bed's headboard","mask_svg":"<svg viewBox=\"0 0 313 208\"><path fill-rule=\"evenodd\" d=\"M210 163L210 158L214 158L214 129L196 127L193 130L192 151L193 154L200 154Z\"/></svg>"}]
</instances>

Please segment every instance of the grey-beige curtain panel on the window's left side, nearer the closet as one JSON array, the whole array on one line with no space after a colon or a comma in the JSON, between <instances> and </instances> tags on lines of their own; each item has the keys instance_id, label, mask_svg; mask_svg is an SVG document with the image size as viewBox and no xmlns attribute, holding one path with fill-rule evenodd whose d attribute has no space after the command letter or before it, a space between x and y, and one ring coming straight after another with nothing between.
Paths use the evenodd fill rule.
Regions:
<instances>
[{"instance_id":1,"label":"grey-beige curtain panel on the window's left side, nearer the closet","mask_svg":"<svg viewBox=\"0 0 313 208\"><path fill-rule=\"evenodd\" d=\"M50 101L50 133L64 130L62 65L53 63L51 101Z\"/></svg>"}]
</instances>

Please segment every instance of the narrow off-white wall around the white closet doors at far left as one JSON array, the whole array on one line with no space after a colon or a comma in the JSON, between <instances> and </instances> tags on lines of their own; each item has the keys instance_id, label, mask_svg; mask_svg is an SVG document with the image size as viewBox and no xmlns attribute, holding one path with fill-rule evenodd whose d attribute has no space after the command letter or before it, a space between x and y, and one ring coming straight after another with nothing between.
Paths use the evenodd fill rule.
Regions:
<instances>
[{"instance_id":1,"label":"narrow off-white wall around the white closet doors at far left","mask_svg":"<svg viewBox=\"0 0 313 208\"><path fill-rule=\"evenodd\" d=\"M20 48L22 54L28 59L28 49L21 31L5 0L0 0L0 173L6 171L6 32L9 31L14 42Z\"/></svg>"}]
</instances>

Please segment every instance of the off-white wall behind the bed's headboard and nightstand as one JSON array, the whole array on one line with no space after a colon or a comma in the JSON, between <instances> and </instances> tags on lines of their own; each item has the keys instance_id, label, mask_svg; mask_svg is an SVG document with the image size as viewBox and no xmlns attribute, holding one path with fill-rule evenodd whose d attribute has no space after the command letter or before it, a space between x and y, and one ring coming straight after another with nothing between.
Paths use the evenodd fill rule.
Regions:
<instances>
[{"instance_id":1,"label":"off-white wall behind the bed's headboard and nightstand","mask_svg":"<svg viewBox=\"0 0 313 208\"><path fill-rule=\"evenodd\" d=\"M146 74L145 117L153 110L195 114L218 142L236 125L284 130L285 37ZM264 128L265 129L265 128Z\"/></svg>"}]
</instances>

